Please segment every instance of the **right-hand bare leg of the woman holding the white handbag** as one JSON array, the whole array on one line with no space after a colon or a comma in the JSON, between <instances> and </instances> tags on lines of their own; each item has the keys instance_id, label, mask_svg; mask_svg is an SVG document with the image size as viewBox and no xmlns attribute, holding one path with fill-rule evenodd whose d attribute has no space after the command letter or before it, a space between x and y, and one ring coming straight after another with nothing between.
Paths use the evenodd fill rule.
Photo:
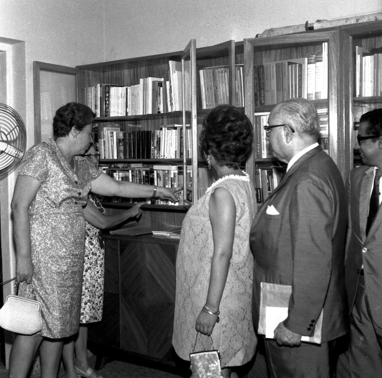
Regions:
<instances>
[{"instance_id":1,"label":"right-hand bare leg of the woman holding the white handbag","mask_svg":"<svg viewBox=\"0 0 382 378\"><path fill-rule=\"evenodd\" d=\"M63 339L43 340L40 347L41 378L57 377L60 368L63 345Z\"/></svg>"}]
</instances>

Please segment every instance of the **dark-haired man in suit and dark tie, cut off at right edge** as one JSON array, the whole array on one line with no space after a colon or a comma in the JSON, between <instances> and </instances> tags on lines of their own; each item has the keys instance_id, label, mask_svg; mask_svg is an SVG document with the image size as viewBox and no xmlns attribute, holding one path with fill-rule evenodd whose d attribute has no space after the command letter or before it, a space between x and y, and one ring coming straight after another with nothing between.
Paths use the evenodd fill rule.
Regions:
<instances>
[{"instance_id":1,"label":"dark-haired man in suit and dark tie, cut off at right edge","mask_svg":"<svg viewBox=\"0 0 382 378\"><path fill-rule=\"evenodd\" d=\"M351 170L346 182L349 223L345 283L350 343L348 351L340 356L337 377L376 378L382 377L382 212L379 206L382 108L361 116L355 149L365 165Z\"/></svg>"}]
</instances>

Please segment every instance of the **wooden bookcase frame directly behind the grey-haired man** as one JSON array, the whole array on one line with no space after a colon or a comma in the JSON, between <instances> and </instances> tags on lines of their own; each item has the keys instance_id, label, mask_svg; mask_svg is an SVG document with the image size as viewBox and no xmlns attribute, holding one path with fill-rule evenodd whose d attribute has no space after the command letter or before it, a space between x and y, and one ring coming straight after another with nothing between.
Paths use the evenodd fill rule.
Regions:
<instances>
[{"instance_id":1,"label":"wooden bookcase frame directly behind the grey-haired man","mask_svg":"<svg viewBox=\"0 0 382 378\"><path fill-rule=\"evenodd\" d=\"M255 124L255 114L270 112L273 104L255 106L254 67L270 62L305 58L310 53L322 51L322 43L327 43L327 98L314 99L316 108L328 109L329 155L337 164L342 175L348 168L344 163L344 125L342 121L342 79L340 76L340 38L338 30L314 31L279 35L265 38L250 38L244 41L244 61L246 72L246 113ZM256 132L257 130L255 130ZM254 151L255 151L254 140ZM253 153L248 162L248 171L255 177L255 169L271 167L273 158L257 158Z\"/></svg>"}]
</instances>

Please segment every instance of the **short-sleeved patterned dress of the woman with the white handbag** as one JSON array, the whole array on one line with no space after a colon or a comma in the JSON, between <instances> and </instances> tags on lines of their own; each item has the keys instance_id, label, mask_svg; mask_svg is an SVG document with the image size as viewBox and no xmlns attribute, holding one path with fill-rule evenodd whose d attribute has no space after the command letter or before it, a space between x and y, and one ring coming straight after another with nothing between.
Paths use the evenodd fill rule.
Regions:
<instances>
[{"instance_id":1,"label":"short-sleeved patterned dress of the woman with the white handbag","mask_svg":"<svg viewBox=\"0 0 382 378\"><path fill-rule=\"evenodd\" d=\"M41 303L41 335L63 338L79 327L86 204L91 181L100 175L83 158L72 170L55 141L33 146L24 156L19 175L41 185L29 207L33 283ZM30 285L19 295L32 298Z\"/></svg>"}]
</instances>

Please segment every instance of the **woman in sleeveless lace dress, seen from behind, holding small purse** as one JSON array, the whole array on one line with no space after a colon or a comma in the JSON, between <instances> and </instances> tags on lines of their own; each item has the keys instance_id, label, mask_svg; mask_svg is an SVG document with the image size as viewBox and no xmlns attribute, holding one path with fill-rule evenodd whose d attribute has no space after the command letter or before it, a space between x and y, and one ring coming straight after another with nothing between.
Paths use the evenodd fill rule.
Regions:
<instances>
[{"instance_id":1,"label":"woman in sleeveless lace dress, seen from behind, holding small purse","mask_svg":"<svg viewBox=\"0 0 382 378\"><path fill-rule=\"evenodd\" d=\"M223 377L237 377L231 371L252 359L257 344L249 245L255 189L240 169L252 140L250 120L234 106L217 106L205 117L200 147L217 181L187 212L176 262L175 351L190 360L197 332L195 352L212 349L211 335Z\"/></svg>"}]
</instances>

